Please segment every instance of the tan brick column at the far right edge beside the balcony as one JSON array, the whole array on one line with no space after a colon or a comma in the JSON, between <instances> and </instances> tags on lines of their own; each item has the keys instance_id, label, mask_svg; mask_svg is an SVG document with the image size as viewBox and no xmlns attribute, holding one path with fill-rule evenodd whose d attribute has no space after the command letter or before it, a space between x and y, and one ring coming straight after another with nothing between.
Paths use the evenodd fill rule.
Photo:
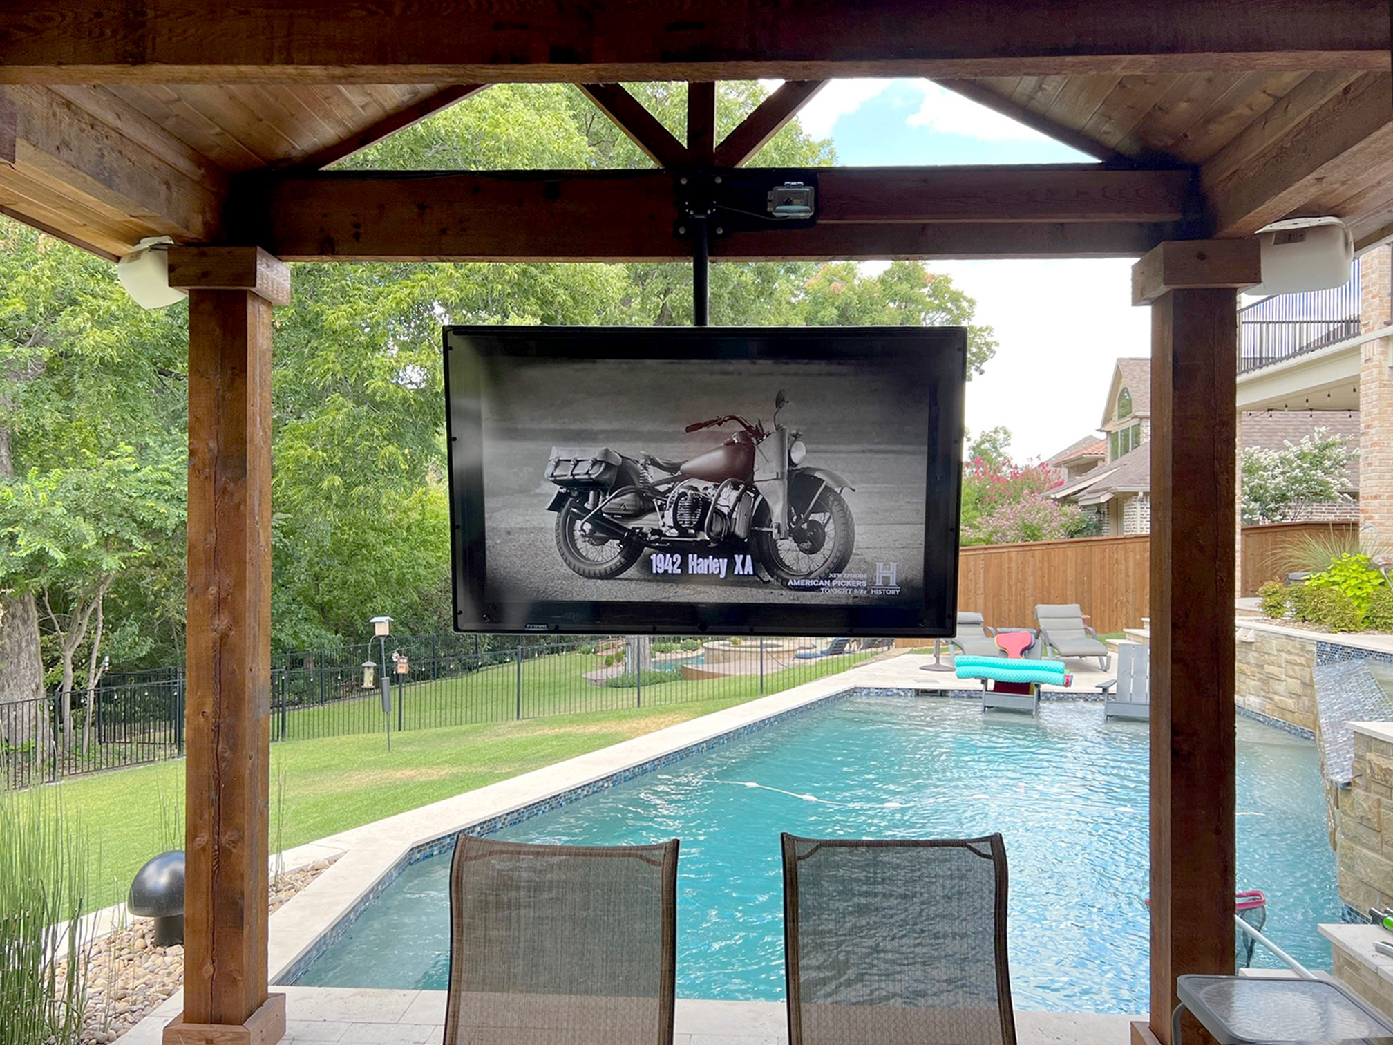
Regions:
<instances>
[{"instance_id":1,"label":"tan brick column at the far right edge beside the balcony","mask_svg":"<svg viewBox=\"0 0 1393 1045\"><path fill-rule=\"evenodd\" d=\"M1365 333L1393 322L1389 247L1360 259L1360 326ZM1364 346L1360 365L1360 521L1393 541L1393 372L1389 340Z\"/></svg>"}]
</instances>

